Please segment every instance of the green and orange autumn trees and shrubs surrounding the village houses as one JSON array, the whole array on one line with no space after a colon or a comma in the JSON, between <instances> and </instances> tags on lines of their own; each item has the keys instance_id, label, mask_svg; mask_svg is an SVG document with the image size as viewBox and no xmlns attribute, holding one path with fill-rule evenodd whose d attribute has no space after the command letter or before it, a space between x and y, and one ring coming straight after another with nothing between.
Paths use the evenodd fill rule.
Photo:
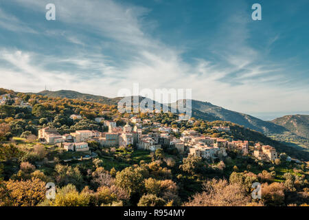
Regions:
<instances>
[{"instance_id":1,"label":"green and orange autumn trees and shrubs surrounding the village houses","mask_svg":"<svg viewBox=\"0 0 309 220\"><path fill-rule=\"evenodd\" d=\"M244 126L221 120L176 122L174 113L136 114L148 120L144 133L155 130L154 123L159 122L180 132L193 129L211 137L249 140L250 146L254 142L269 144L282 153L280 159L262 162L227 149L227 157L206 160L181 155L171 146L150 153L135 146L104 148L93 141L89 141L89 146L95 155L85 159L89 153L67 152L60 146L39 142L38 129L51 126L61 134L79 129L104 131L103 124L94 118L115 120L119 125L124 124L123 118L128 118L128 114L119 113L113 104L90 102L87 97L84 100L58 98L0 89L1 93L10 93L16 99L0 106L0 206L301 206L308 203L308 153L291 150ZM32 109L20 107L21 101L28 102ZM72 120L71 114L82 118ZM217 131L213 126L229 126L231 131ZM179 137L180 134L171 135ZM287 162L287 155L303 160ZM251 197L255 181L262 184L261 199ZM48 182L56 184L55 199L45 197Z\"/></svg>"}]
</instances>

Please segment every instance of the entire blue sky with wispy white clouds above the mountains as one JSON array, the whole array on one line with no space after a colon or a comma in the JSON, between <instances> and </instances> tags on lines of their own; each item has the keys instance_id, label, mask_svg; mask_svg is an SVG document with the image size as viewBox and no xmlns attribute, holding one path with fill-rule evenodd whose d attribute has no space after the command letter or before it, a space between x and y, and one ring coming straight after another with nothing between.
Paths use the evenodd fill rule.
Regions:
<instances>
[{"instance_id":1,"label":"entire blue sky with wispy white clouds above the mountains","mask_svg":"<svg viewBox=\"0 0 309 220\"><path fill-rule=\"evenodd\" d=\"M47 21L47 3L56 20ZM262 20L253 21L253 3ZM242 113L309 111L308 0L3 0L0 87L192 89Z\"/></svg>"}]
</instances>

